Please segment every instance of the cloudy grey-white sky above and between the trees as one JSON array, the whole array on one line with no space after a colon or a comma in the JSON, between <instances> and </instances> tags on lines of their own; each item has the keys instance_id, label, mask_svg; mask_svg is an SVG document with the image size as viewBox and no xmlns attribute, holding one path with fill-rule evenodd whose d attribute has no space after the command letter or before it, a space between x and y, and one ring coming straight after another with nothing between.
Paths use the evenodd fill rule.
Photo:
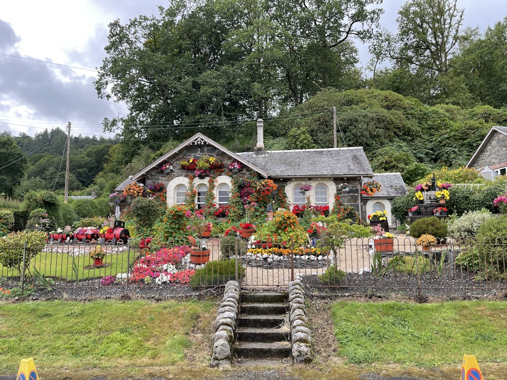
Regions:
<instances>
[{"instance_id":1,"label":"cloudy grey-white sky above and between the trees","mask_svg":"<svg viewBox=\"0 0 507 380\"><path fill-rule=\"evenodd\" d=\"M381 27L396 31L405 0L384 0ZM107 25L159 15L165 0L0 0L0 132L30 136L45 129L111 137L102 120L127 113L124 104L100 99L93 82L105 58ZM507 15L505 0L458 0L464 26L483 32ZM367 47L358 46L361 66ZM43 61L43 62L41 62ZM51 63L47 63L51 62Z\"/></svg>"}]
</instances>

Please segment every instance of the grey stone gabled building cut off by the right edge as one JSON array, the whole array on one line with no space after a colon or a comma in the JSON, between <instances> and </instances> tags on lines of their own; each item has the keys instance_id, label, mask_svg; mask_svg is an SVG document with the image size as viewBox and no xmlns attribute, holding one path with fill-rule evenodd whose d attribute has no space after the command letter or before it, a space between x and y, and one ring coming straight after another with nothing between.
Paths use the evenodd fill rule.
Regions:
<instances>
[{"instance_id":1,"label":"grey stone gabled building cut off by the right edge","mask_svg":"<svg viewBox=\"0 0 507 380\"><path fill-rule=\"evenodd\" d=\"M507 127L491 127L466 167L477 168L491 180L507 174Z\"/></svg>"}]
</instances>

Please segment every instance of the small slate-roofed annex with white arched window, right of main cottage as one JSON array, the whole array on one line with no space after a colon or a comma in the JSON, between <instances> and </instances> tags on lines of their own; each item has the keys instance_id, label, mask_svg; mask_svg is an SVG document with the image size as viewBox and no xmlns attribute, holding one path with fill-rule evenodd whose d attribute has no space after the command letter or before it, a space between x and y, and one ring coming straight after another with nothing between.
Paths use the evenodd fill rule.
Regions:
<instances>
[{"instance_id":1,"label":"small slate-roofed annex with white arched window, right of main cottage","mask_svg":"<svg viewBox=\"0 0 507 380\"><path fill-rule=\"evenodd\" d=\"M372 178L364 178L363 184L368 180L379 182L382 188L375 195L363 198L363 208L367 215L376 211L387 211L387 221L389 226L393 227L396 224L396 218L391 213L392 201L396 197L403 197L409 193L402 175L400 173L376 173Z\"/></svg>"}]
</instances>

